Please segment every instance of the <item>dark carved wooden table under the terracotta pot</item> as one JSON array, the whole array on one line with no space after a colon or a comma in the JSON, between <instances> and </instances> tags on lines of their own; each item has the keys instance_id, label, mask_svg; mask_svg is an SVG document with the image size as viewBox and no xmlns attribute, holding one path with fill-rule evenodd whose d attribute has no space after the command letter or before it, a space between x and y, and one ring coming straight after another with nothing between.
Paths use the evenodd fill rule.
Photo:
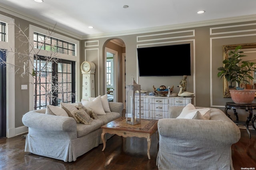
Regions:
<instances>
[{"instance_id":1,"label":"dark carved wooden table under the terracotta pot","mask_svg":"<svg viewBox=\"0 0 256 170\"><path fill-rule=\"evenodd\" d=\"M228 110L229 109L233 109L234 115L236 116L236 120L234 121L234 123L236 123L236 125L245 125L246 131L249 134L249 137L251 138L251 134L250 134L250 131L249 131L248 127L250 125L252 125L252 127L256 130L256 128L254 126L254 121L256 119L256 114L252 118L253 110L256 109L256 104L255 103L251 103L251 104L236 104L234 102L226 102L225 114L232 120L232 118L230 117L230 114L228 114ZM244 109L245 111L249 112L249 116L247 117L246 121L240 121L239 120L238 113L237 113L236 109ZM250 121L251 121L251 123L250 123Z\"/></svg>"}]
</instances>

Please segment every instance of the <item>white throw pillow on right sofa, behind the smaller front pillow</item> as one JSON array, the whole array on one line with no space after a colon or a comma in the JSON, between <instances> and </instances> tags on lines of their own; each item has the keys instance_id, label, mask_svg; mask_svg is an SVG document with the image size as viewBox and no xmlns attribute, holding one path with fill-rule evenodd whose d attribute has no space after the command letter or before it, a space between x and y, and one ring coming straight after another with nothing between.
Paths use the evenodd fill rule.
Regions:
<instances>
[{"instance_id":1,"label":"white throw pillow on right sofa, behind the smaller front pillow","mask_svg":"<svg viewBox=\"0 0 256 170\"><path fill-rule=\"evenodd\" d=\"M204 116L204 118L206 118L207 120L210 120L210 113L211 110L210 108L202 108L202 109L196 109L196 107L192 104L188 104L187 106L185 106L182 109L182 112L180 113L180 115L176 118L184 118L188 113L194 112L194 111L199 111L201 113L202 116Z\"/></svg>"}]
</instances>

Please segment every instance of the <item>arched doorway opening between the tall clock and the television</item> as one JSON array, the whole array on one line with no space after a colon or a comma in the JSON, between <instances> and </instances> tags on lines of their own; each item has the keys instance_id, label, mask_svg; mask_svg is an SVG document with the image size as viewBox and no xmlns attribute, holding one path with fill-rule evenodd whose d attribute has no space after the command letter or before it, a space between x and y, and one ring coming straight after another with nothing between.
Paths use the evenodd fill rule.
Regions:
<instances>
[{"instance_id":1,"label":"arched doorway opening between the tall clock and the television","mask_svg":"<svg viewBox=\"0 0 256 170\"><path fill-rule=\"evenodd\" d=\"M109 39L104 45L104 79L108 100L125 106L125 44L122 39Z\"/></svg>"}]
</instances>

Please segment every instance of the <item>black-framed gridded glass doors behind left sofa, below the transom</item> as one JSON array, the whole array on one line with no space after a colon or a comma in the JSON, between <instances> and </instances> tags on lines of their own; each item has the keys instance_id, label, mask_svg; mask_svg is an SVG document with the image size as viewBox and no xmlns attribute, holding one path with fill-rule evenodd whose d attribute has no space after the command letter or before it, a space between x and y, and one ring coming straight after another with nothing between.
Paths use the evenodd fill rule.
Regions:
<instances>
[{"instance_id":1,"label":"black-framed gridded glass doors behind left sofa, below the transom","mask_svg":"<svg viewBox=\"0 0 256 170\"><path fill-rule=\"evenodd\" d=\"M34 68L37 68L34 80L37 109L46 108L48 104L58 106L60 102L75 102L74 65L74 61L62 59L57 62L46 61L44 57L34 59Z\"/></svg>"}]
</instances>

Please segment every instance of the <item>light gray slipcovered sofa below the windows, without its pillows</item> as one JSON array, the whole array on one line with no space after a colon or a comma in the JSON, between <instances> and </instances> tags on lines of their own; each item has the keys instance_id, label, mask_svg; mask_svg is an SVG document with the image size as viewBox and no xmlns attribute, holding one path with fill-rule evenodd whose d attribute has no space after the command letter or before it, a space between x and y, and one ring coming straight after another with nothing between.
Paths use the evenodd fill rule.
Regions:
<instances>
[{"instance_id":1,"label":"light gray slipcovered sofa below the windows, without its pillows","mask_svg":"<svg viewBox=\"0 0 256 170\"><path fill-rule=\"evenodd\" d=\"M109 102L109 107L111 112L98 115L90 125L76 123L72 117L44 114L46 109L29 111L22 117L23 124L28 127L25 152L64 162L75 161L102 143L102 125L122 116L122 103ZM106 139L110 137L106 134Z\"/></svg>"}]
</instances>

